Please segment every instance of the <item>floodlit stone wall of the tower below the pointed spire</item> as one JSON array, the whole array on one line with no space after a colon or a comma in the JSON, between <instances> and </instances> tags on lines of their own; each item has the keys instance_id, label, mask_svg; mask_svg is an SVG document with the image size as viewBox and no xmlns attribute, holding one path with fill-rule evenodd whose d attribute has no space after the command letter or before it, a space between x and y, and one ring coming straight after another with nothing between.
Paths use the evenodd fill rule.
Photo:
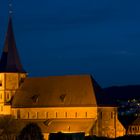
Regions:
<instances>
[{"instance_id":1,"label":"floodlit stone wall of the tower below the pointed spire","mask_svg":"<svg viewBox=\"0 0 140 140\"><path fill-rule=\"evenodd\" d=\"M11 114L11 98L25 77L24 73L0 73L0 114Z\"/></svg>"}]
</instances>

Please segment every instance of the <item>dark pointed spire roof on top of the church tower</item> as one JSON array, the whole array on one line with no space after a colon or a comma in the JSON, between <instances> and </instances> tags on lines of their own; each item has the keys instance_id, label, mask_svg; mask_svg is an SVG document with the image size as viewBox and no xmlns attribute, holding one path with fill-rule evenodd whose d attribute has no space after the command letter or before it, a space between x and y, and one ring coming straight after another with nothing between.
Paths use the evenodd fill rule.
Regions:
<instances>
[{"instance_id":1,"label":"dark pointed spire roof on top of the church tower","mask_svg":"<svg viewBox=\"0 0 140 140\"><path fill-rule=\"evenodd\" d=\"M5 44L0 60L0 72L25 72L20 63L14 38L12 18L9 18Z\"/></svg>"}]
</instances>

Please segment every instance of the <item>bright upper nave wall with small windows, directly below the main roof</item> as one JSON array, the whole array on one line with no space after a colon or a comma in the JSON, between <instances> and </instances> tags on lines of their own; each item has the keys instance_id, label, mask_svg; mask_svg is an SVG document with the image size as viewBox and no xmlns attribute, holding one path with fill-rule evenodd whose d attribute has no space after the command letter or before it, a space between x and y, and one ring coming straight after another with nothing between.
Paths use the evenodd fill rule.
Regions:
<instances>
[{"instance_id":1,"label":"bright upper nave wall with small windows, directly below the main roof","mask_svg":"<svg viewBox=\"0 0 140 140\"><path fill-rule=\"evenodd\" d=\"M17 119L97 118L96 107L12 108Z\"/></svg>"}]
</instances>

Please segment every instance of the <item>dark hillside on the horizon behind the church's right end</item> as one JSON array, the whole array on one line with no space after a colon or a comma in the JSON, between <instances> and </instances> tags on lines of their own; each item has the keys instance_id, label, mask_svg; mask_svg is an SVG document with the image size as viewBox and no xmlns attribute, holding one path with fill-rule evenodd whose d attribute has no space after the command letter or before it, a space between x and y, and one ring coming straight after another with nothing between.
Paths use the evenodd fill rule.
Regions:
<instances>
[{"instance_id":1,"label":"dark hillside on the horizon behind the church's right end","mask_svg":"<svg viewBox=\"0 0 140 140\"><path fill-rule=\"evenodd\" d=\"M117 105L117 101L140 99L140 85L112 86L103 88L97 94L99 105Z\"/></svg>"}]
</instances>

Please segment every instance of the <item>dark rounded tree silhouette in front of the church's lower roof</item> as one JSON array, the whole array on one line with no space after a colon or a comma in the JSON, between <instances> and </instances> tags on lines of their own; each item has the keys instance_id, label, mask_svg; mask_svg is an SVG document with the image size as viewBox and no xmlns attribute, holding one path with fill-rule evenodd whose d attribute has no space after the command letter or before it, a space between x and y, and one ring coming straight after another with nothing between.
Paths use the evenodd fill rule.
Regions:
<instances>
[{"instance_id":1,"label":"dark rounded tree silhouette in front of the church's lower roof","mask_svg":"<svg viewBox=\"0 0 140 140\"><path fill-rule=\"evenodd\" d=\"M29 123L21 130L17 140L44 140L44 138L40 127L36 123Z\"/></svg>"}]
</instances>

